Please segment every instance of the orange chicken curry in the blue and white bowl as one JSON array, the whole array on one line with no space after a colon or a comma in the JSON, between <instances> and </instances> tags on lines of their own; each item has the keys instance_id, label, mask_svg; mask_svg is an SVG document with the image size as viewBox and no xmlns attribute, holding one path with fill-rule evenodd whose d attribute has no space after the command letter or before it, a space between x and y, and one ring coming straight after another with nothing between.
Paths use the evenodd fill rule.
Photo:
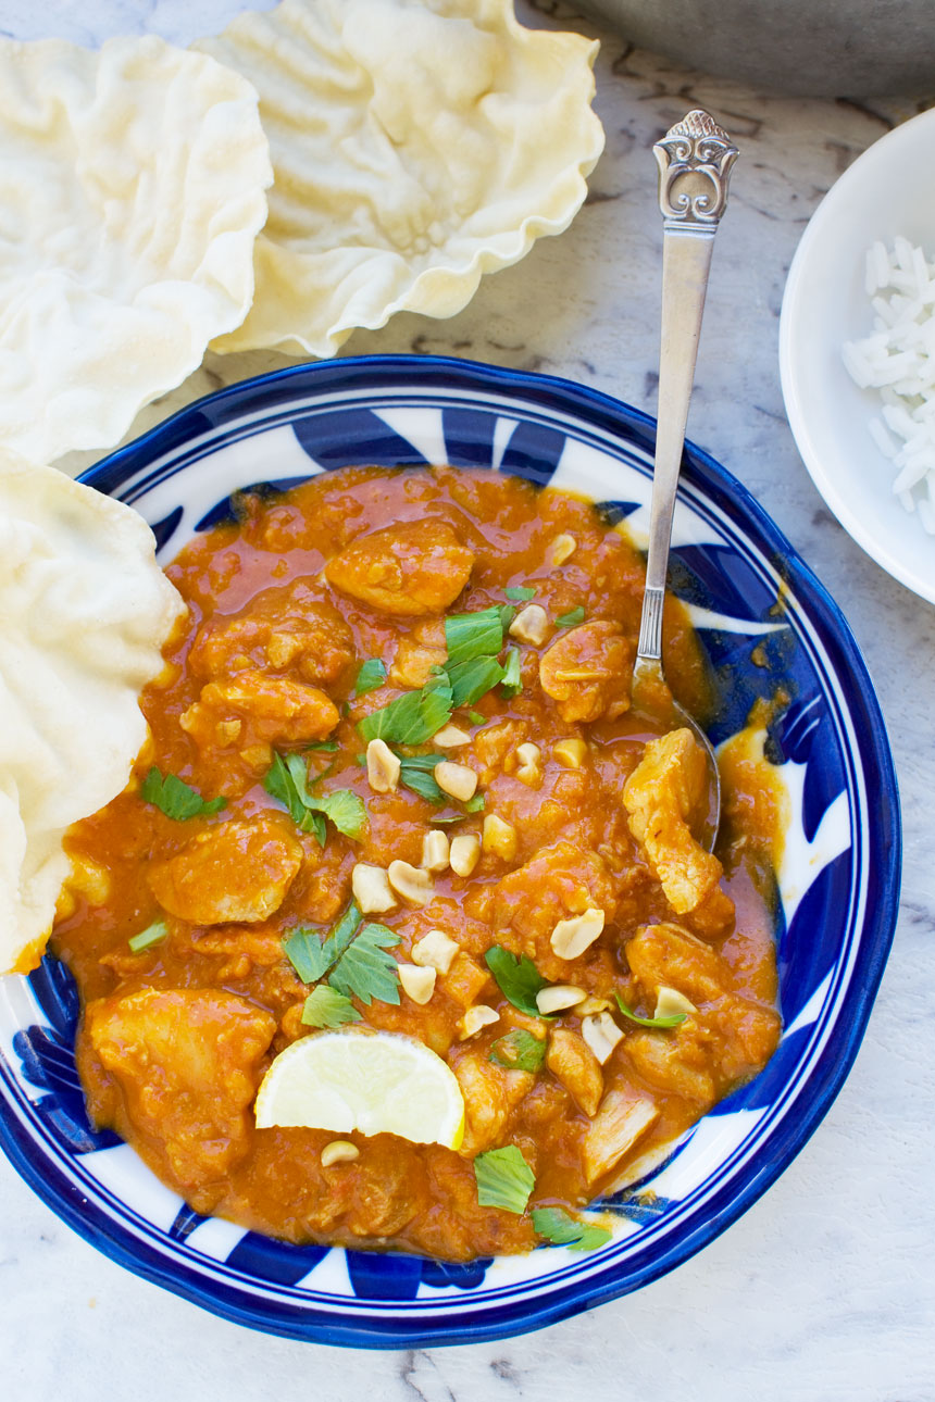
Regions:
<instances>
[{"instance_id":1,"label":"orange chicken curry in the blue and white bowl","mask_svg":"<svg viewBox=\"0 0 935 1402\"><path fill-rule=\"evenodd\" d=\"M537 1241L528 1211L478 1204L474 1155L517 1145L535 1175L530 1207L573 1210L659 1161L667 1143L771 1056L779 1016L768 796L737 789L756 774L735 767L719 847L725 876L697 908L677 913L621 799L648 740L621 711L643 566L592 505L519 478L443 467L348 468L285 495L247 496L241 508L238 523L199 536L168 568L191 614L142 698L151 739L126 791L69 837L74 878L53 949L86 1009L79 1067L90 1113L195 1209L261 1232L450 1259L528 1249ZM364 547L363 565L352 554L328 582L328 561L390 523ZM558 537L573 545L561 564ZM419 551L430 579L414 564ZM400 583L394 559L408 579L408 614L363 597L370 585L391 592ZM446 571L447 607L437 597ZM474 715L453 715L471 739L449 758L477 773L484 809L433 806L402 787L373 792L356 722L444 662L443 613L503 604L507 586L535 590L548 638L519 642L516 697L496 687L470 708ZM603 621L604 631L562 642L575 666L565 667L572 680L557 698L540 684L540 659L572 637L555 621L576 608L583 629ZM355 697L369 658L383 659L388 679ZM575 667L587 673L594 658L610 680L576 683ZM676 603L666 618L666 672L683 704L704 709L702 658ZM313 688L318 700L296 701ZM336 750L308 747L322 736ZM568 751L557 757L566 739L585 742L579 767ZM517 757L523 743L538 746L531 771ZM360 795L367 822L359 841L328 823L322 850L296 827L264 788L273 750L303 754L313 794ZM151 765L206 799L223 795L226 806L188 820L164 816L140 795ZM436 823L454 815L463 816ZM419 1037L447 1060L467 1108L460 1151L352 1134L359 1158L324 1168L321 1150L334 1133L258 1130L251 1106L266 1067L314 1035L301 1022L310 990L285 958L283 937L297 925L329 930L349 904L355 864L419 866L430 829L481 836L491 815L509 824L513 851L509 840L488 844L471 875L435 872L426 904L400 897L364 917L400 937L393 955L401 963L433 928L460 946L425 1005L402 990L398 1005L357 1004L363 1026ZM603 932L580 956L559 958L550 942L557 923L589 907L603 910ZM130 937L157 920L167 921L167 938L133 953ZM495 944L530 958L550 983L607 1000L622 1036L603 1064L582 1037L580 1008L537 1019L503 997L484 960ZM614 993L652 1018L662 986L697 1009L680 1026L643 1028L617 1011ZM499 1018L465 1037L463 1019L478 1004ZM491 1060L513 1028L547 1040L540 1071ZM621 1110L634 1103L641 1127L628 1138Z\"/></svg>"}]
</instances>

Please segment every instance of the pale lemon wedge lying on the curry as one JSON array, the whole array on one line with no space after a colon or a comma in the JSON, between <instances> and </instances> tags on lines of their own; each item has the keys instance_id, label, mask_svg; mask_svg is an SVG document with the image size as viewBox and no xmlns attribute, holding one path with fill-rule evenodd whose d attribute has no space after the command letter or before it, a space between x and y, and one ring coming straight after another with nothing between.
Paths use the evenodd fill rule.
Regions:
<instances>
[{"instance_id":1,"label":"pale lemon wedge lying on the curry","mask_svg":"<svg viewBox=\"0 0 935 1402\"><path fill-rule=\"evenodd\" d=\"M254 1109L258 1129L359 1130L446 1148L464 1138L457 1077L398 1032L318 1032L293 1042L266 1071Z\"/></svg>"}]
</instances>

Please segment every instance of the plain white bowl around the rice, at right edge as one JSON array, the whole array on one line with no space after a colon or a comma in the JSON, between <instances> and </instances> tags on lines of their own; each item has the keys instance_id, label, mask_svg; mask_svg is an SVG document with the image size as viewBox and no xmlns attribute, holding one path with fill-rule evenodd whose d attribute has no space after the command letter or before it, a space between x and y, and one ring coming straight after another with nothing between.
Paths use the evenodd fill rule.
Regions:
<instances>
[{"instance_id":1,"label":"plain white bowl around the rice, at right edge","mask_svg":"<svg viewBox=\"0 0 935 1402\"><path fill-rule=\"evenodd\" d=\"M865 254L897 234L935 254L935 109L897 126L831 186L802 236L779 322L786 414L812 479L878 565L935 603L935 537L893 495L894 470L871 437L879 395L841 360L872 329Z\"/></svg>"}]
</instances>

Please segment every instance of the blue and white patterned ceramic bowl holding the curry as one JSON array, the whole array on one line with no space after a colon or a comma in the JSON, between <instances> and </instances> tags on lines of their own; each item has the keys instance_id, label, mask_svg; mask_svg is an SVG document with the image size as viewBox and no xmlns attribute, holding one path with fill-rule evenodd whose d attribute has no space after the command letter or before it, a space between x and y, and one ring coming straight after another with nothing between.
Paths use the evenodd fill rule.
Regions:
<instances>
[{"instance_id":1,"label":"blue and white patterned ceramic bowl holding the curry","mask_svg":"<svg viewBox=\"0 0 935 1402\"><path fill-rule=\"evenodd\" d=\"M561 380L460 360L338 360L202 400L86 481L143 513L163 561L227 513L230 492L350 463L516 472L593 496L639 540L652 443L645 415ZM673 544L674 589L723 683L715 740L779 683L793 697L771 735L793 812L777 873L785 1033L767 1068L707 1115L649 1183L603 1204L617 1230L592 1255L544 1246L449 1265L297 1248L199 1217L133 1150L91 1130L74 1070L74 986L46 959L28 979L0 981L0 1143L69 1225L240 1323L402 1347L519 1333L635 1290L770 1186L831 1105L864 1035L896 920L896 780L844 618L739 482L691 447Z\"/></svg>"}]
</instances>

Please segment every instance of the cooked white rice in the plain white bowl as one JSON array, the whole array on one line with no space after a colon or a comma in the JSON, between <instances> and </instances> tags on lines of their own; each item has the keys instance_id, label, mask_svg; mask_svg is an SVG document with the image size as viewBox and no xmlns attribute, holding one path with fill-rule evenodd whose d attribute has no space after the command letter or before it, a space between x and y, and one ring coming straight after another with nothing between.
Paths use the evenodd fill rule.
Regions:
<instances>
[{"instance_id":1,"label":"cooked white rice in the plain white bowl","mask_svg":"<svg viewBox=\"0 0 935 1402\"><path fill-rule=\"evenodd\" d=\"M873 331L844 345L844 365L862 390L878 390L873 442L893 464L893 492L935 536L935 262L908 241L866 254Z\"/></svg>"}]
</instances>

